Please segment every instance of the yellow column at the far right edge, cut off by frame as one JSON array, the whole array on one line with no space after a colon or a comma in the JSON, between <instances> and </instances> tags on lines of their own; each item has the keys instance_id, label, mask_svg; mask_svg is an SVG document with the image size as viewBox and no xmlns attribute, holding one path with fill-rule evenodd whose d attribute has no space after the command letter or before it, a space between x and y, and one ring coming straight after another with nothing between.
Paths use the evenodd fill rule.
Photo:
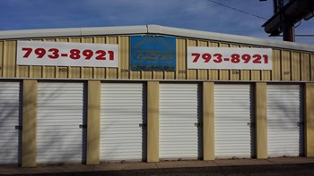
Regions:
<instances>
[{"instance_id":1,"label":"yellow column at the far right edge, cut off by frame","mask_svg":"<svg viewBox=\"0 0 314 176\"><path fill-rule=\"evenodd\" d=\"M305 156L314 157L314 83L305 84L304 146Z\"/></svg>"}]
</instances>

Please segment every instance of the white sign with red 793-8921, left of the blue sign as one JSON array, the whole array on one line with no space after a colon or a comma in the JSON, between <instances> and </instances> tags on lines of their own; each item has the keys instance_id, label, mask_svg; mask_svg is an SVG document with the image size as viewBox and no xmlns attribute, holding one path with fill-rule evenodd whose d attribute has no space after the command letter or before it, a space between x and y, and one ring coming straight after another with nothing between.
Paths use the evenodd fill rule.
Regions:
<instances>
[{"instance_id":1,"label":"white sign with red 793-8921, left of the blue sign","mask_svg":"<svg viewBox=\"0 0 314 176\"><path fill-rule=\"evenodd\" d=\"M18 41L17 64L118 68L118 45Z\"/></svg>"}]
</instances>

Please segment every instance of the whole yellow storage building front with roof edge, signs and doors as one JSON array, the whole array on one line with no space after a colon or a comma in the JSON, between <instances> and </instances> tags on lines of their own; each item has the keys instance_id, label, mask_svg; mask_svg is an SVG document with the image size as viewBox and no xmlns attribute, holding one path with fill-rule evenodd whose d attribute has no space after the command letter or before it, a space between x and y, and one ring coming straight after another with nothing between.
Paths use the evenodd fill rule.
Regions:
<instances>
[{"instance_id":1,"label":"whole yellow storage building front with roof edge, signs and doors","mask_svg":"<svg viewBox=\"0 0 314 176\"><path fill-rule=\"evenodd\" d=\"M0 32L0 163L314 156L314 46L156 25Z\"/></svg>"}]
</instances>

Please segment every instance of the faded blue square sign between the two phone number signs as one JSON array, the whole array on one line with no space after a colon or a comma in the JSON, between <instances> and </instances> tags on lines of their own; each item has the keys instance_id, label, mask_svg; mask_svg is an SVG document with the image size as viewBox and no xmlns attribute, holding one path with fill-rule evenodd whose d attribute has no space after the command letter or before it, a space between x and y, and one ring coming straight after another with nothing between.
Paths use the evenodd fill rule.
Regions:
<instances>
[{"instance_id":1,"label":"faded blue square sign between the two phone number signs","mask_svg":"<svg viewBox=\"0 0 314 176\"><path fill-rule=\"evenodd\" d=\"M132 36L131 71L176 71L176 38Z\"/></svg>"}]
</instances>

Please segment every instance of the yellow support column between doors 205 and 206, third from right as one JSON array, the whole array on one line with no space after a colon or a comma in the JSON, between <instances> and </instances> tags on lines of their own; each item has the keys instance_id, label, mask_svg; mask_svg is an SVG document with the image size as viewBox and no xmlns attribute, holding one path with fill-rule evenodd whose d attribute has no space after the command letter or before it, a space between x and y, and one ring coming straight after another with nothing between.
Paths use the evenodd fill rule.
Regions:
<instances>
[{"instance_id":1,"label":"yellow support column between doors 205 and 206, third from right","mask_svg":"<svg viewBox=\"0 0 314 176\"><path fill-rule=\"evenodd\" d=\"M204 160L214 160L214 82L203 82Z\"/></svg>"}]
</instances>

